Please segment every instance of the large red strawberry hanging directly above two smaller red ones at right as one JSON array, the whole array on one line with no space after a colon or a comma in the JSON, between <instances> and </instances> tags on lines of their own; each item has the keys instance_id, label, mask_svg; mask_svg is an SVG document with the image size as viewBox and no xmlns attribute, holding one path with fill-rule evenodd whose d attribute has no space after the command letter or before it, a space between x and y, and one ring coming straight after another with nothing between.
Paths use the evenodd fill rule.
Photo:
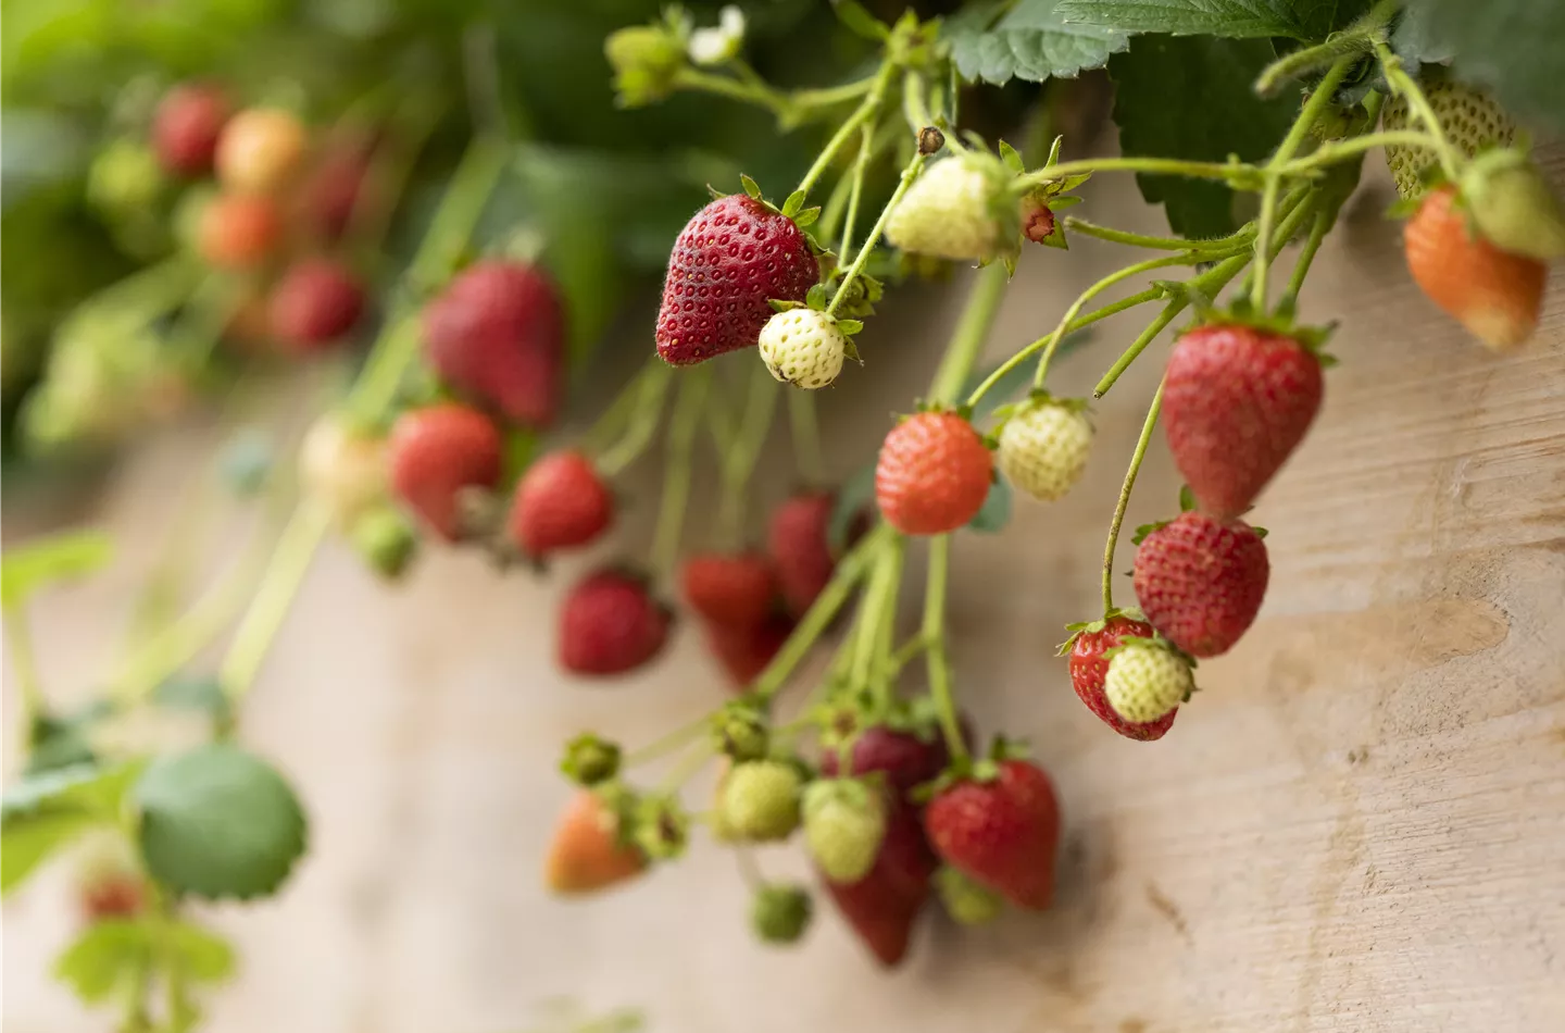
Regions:
<instances>
[{"instance_id":1,"label":"large red strawberry hanging directly above two smaller red ones at right","mask_svg":"<svg viewBox=\"0 0 1565 1033\"><path fill-rule=\"evenodd\" d=\"M1174 463L1202 509L1250 507L1321 409L1321 362L1291 337L1210 324L1180 338L1163 382Z\"/></svg>"}]
</instances>

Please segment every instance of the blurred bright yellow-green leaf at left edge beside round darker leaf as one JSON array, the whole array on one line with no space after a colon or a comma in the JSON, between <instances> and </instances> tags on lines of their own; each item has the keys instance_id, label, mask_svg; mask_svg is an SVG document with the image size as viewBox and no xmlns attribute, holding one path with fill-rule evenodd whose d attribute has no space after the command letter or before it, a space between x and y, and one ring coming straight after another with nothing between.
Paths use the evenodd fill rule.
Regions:
<instances>
[{"instance_id":1,"label":"blurred bright yellow-green leaf at left edge beside round darker leaf","mask_svg":"<svg viewBox=\"0 0 1565 1033\"><path fill-rule=\"evenodd\" d=\"M119 817L139 764L77 764L27 775L0 797L0 894L11 892L52 853Z\"/></svg>"}]
</instances>

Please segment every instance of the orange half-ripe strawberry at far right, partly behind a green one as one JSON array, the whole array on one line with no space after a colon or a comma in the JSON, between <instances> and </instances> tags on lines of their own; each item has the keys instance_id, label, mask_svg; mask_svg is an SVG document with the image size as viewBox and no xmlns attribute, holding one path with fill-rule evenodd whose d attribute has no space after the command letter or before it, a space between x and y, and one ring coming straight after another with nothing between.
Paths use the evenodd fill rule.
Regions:
<instances>
[{"instance_id":1,"label":"orange half-ripe strawberry at far right, partly behind a green one","mask_svg":"<svg viewBox=\"0 0 1565 1033\"><path fill-rule=\"evenodd\" d=\"M1429 191L1402 230L1407 268L1419 290L1495 351L1510 351L1538 326L1548 266L1476 235L1455 188Z\"/></svg>"}]
</instances>

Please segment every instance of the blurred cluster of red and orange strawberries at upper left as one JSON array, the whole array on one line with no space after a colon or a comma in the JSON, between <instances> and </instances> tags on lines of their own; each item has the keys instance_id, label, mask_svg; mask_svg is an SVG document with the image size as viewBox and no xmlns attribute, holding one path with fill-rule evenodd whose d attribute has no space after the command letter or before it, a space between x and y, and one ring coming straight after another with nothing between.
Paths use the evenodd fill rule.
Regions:
<instances>
[{"instance_id":1,"label":"blurred cluster of red and orange strawberries at upper left","mask_svg":"<svg viewBox=\"0 0 1565 1033\"><path fill-rule=\"evenodd\" d=\"M365 286L333 254L369 188L374 139L322 139L280 108L233 111L210 85L175 86L153 114L163 171L216 175L191 194L186 221L213 268L252 277L230 335L316 352L343 341L365 311Z\"/></svg>"}]
</instances>

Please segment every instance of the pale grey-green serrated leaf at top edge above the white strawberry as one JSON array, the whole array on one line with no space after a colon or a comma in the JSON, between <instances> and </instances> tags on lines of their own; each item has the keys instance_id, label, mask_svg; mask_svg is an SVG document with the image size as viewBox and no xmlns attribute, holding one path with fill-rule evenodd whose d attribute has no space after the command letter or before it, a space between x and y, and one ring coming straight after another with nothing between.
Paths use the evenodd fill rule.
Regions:
<instances>
[{"instance_id":1,"label":"pale grey-green serrated leaf at top edge above the white strawberry","mask_svg":"<svg viewBox=\"0 0 1565 1033\"><path fill-rule=\"evenodd\" d=\"M956 70L969 81L1041 83L1102 67L1108 55L1130 45L1130 38L1111 27L1067 23L1063 6L1060 0L1020 0L994 28L958 28L952 33Z\"/></svg>"}]
</instances>

